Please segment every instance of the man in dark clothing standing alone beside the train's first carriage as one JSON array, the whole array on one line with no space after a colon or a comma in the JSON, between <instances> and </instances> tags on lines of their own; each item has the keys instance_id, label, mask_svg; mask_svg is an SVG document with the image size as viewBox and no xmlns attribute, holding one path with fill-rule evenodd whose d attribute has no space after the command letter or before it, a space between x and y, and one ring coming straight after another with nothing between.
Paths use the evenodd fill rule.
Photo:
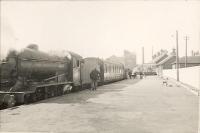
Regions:
<instances>
[{"instance_id":1,"label":"man in dark clothing standing alone beside the train's first carriage","mask_svg":"<svg viewBox=\"0 0 200 133\"><path fill-rule=\"evenodd\" d=\"M100 72L95 68L90 73L90 79L91 79L91 89L96 90L97 89L97 81L99 79Z\"/></svg>"}]
</instances>

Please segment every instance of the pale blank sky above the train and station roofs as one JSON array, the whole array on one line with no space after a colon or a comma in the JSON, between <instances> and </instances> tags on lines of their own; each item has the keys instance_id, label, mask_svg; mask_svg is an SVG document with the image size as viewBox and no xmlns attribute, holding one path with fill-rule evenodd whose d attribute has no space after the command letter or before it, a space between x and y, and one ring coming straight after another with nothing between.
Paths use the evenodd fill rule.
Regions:
<instances>
[{"instance_id":1,"label":"pale blank sky above the train and station roofs","mask_svg":"<svg viewBox=\"0 0 200 133\"><path fill-rule=\"evenodd\" d=\"M1 1L1 57L9 49L37 44L41 51L70 50L83 57L123 56L137 63L153 52L171 51L179 33L179 53L200 49L200 1Z\"/></svg>"}]
</instances>

